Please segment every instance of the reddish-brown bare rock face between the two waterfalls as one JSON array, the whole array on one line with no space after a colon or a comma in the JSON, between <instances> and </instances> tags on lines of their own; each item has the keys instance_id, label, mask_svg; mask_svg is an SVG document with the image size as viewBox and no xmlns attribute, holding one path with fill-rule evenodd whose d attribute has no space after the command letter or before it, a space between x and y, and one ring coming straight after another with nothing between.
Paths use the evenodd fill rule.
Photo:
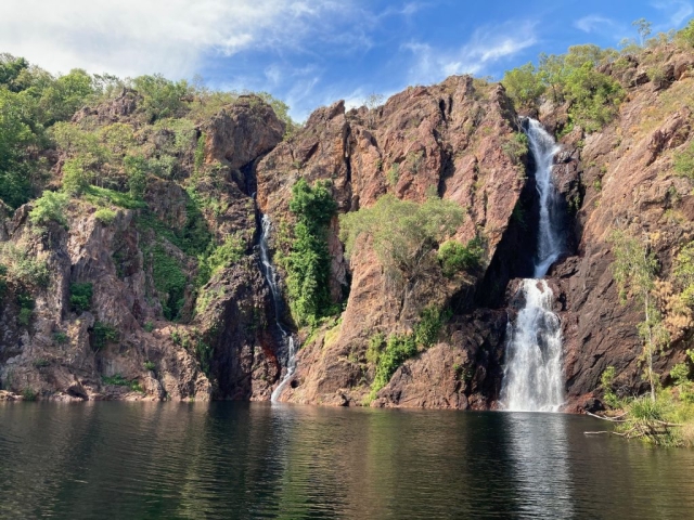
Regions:
<instances>
[{"instance_id":1,"label":"reddish-brown bare rock face between the two waterfalls","mask_svg":"<svg viewBox=\"0 0 694 520\"><path fill-rule=\"evenodd\" d=\"M435 193L466 209L457 237L467 240L480 231L488 240L489 261L525 184L523 158L510 157L503 147L514 128L515 114L503 89L475 88L470 77L408 89L371 113L364 108L346 113L339 102L314 112L299 134L259 162L258 205L274 222L291 222L291 187L299 177L309 182L331 180L340 212L369 207L386 193L415 202ZM411 330L424 307L442 307L475 284L475 280L451 284L439 270L430 269L415 286L396 287L365 238L350 264L343 262L337 232L335 223L330 237L332 294L342 292L345 273L351 273L346 311L340 325L304 347L295 388L285 391L286 400L360 403L372 377L372 367L363 363L369 338ZM462 346L450 348L463 355ZM427 372L450 361L426 360ZM457 403L466 402L462 395ZM434 401L427 405L434 406Z\"/></svg>"}]
</instances>

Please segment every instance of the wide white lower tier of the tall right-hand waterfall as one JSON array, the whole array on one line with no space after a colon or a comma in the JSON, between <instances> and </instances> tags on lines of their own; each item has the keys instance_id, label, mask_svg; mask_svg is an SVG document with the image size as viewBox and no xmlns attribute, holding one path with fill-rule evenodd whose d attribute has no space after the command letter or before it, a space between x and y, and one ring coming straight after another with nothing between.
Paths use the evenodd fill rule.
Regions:
<instances>
[{"instance_id":1,"label":"wide white lower tier of the tall right-hand waterfall","mask_svg":"<svg viewBox=\"0 0 694 520\"><path fill-rule=\"evenodd\" d=\"M524 280L525 306L509 324L501 402L518 412L557 412L563 398L562 326L543 280Z\"/></svg>"}]
</instances>

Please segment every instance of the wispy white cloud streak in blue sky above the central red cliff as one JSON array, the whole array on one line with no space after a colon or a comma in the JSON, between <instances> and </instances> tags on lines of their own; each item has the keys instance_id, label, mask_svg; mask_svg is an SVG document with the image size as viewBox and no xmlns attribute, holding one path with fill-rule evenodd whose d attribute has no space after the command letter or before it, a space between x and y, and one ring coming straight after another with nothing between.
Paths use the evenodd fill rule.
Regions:
<instances>
[{"instance_id":1,"label":"wispy white cloud streak in blue sky above the central red cliff","mask_svg":"<svg viewBox=\"0 0 694 520\"><path fill-rule=\"evenodd\" d=\"M414 55L410 80L432 83L454 74L484 74L491 65L537 43L535 23L509 22L477 29L458 50L435 49L427 43L411 42L403 50Z\"/></svg>"}]
</instances>

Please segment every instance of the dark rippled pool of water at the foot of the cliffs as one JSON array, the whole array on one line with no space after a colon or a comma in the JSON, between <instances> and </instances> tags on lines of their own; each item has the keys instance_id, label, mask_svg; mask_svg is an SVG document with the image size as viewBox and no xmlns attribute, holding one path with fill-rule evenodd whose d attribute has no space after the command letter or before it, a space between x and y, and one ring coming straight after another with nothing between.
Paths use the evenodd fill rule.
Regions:
<instances>
[{"instance_id":1,"label":"dark rippled pool of water at the foot of the cliffs","mask_svg":"<svg viewBox=\"0 0 694 520\"><path fill-rule=\"evenodd\" d=\"M554 414L0 405L2 518L694 518L694 451Z\"/></svg>"}]
</instances>

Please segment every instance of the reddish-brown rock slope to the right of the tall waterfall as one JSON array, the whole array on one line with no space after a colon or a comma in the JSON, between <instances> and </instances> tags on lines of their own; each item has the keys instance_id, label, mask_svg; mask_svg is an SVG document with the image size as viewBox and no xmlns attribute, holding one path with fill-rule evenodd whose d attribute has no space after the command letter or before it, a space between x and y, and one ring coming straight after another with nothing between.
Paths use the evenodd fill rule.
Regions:
<instances>
[{"instance_id":1,"label":"reddish-brown rock slope to the right of the tall waterfall","mask_svg":"<svg viewBox=\"0 0 694 520\"><path fill-rule=\"evenodd\" d=\"M647 77L627 81L629 100L613 123L584 138L576 133L564 139L565 150L575 150L573 158L580 158L582 193L575 216L578 255L551 273L561 300L567 410L593 405L608 366L616 368L625 392L645 389L637 329L643 312L633 301L619 301L608 236L621 229L647 239L664 280L670 277L680 247L694 238L692 182L672 170L673 154L692 136L692 113L676 101L694 91L693 79L679 65L690 62L691 56L670 53L661 65L679 74L668 76L667 84L655 84ZM630 63L635 70L635 60ZM576 143L584 145L576 150ZM686 337L678 339L657 354L655 368L664 382L672 365L684 360L690 342Z\"/></svg>"}]
</instances>

